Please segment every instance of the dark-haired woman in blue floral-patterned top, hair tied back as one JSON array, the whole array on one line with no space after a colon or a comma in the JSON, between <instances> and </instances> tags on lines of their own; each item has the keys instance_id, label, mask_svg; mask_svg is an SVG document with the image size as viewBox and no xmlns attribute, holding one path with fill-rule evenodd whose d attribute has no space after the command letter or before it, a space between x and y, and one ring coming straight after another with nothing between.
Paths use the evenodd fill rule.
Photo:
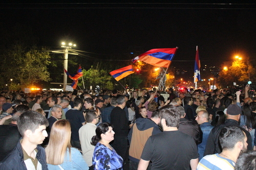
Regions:
<instances>
[{"instance_id":1,"label":"dark-haired woman in blue floral-patterned top, hair tied back","mask_svg":"<svg viewBox=\"0 0 256 170\"><path fill-rule=\"evenodd\" d=\"M112 125L109 123L100 124L96 129L91 144L95 145L93 153L93 167L98 169L122 169L123 159L111 147L110 142L114 140Z\"/></svg>"}]
</instances>

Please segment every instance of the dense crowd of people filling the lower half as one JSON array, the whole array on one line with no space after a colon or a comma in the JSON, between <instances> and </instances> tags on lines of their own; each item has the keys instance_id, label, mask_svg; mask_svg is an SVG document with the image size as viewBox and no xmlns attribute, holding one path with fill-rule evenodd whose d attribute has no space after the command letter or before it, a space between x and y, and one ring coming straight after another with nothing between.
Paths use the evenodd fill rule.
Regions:
<instances>
[{"instance_id":1,"label":"dense crowd of people filling the lower half","mask_svg":"<svg viewBox=\"0 0 256 170\"><path fill-rule=\"evenodd\" d=\"M249 91L2 91L0 169L256 169Z\"/></svg>"}]
</instances>

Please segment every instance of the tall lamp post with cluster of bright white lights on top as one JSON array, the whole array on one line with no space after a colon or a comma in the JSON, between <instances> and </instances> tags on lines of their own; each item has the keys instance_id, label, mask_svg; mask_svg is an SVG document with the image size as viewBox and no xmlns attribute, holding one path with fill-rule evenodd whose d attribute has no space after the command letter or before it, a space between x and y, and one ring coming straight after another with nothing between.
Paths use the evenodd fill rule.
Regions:
<instances>
[{"instance_id":1,"label":"tall lamp post with cluster of bright white lights on top","mask_svg":"<svg viewBox=\"0 0 256 170\"><path fill-rule=\"evenodd\" d=\"M73 44L71 42L67 45L66 45L66 42L61 42L61 47L64 48L64 51L52 51L53 53L64 53L64 69L66 69L67 71L68 71L69 54L78 55L77 53L69 52L70 49L74 46L76 46L76 44ZM64 74L63 74L63 90L66 90L68 76L65 71L63 71L63 72L64 72Z\"/></svg>"}]
</instances>

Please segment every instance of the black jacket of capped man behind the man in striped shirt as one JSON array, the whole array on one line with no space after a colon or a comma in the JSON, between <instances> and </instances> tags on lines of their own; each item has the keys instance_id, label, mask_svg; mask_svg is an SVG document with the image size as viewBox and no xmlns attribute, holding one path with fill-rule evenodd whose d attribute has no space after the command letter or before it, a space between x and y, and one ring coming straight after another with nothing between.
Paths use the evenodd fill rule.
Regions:
<instances>
[{"instance_id":1,"label":"black jacket of capped man behind the man in striped shirt","mask_svg":"<svg viewBox=\"0 0 256 170\"><path fill-rule=\"evenodd\" d=\"M220 154L222 152L222 149L221 149L221 146L219 143L219 135L220 135L221 130L227 126L236 126L236 127L241 128L247 136L247 143L248 143L247 150L248 151L252 150L252 144L251 144L252 141L251 141L250 133L247 130L245 130L244 128L240 127L237 120L227 119L224 124L221 124L210 131L209 137L207 139L205 151L204 151L204 156L212 155L212 154L216 154L216 153Z\"/></svg>"}]
</instances>

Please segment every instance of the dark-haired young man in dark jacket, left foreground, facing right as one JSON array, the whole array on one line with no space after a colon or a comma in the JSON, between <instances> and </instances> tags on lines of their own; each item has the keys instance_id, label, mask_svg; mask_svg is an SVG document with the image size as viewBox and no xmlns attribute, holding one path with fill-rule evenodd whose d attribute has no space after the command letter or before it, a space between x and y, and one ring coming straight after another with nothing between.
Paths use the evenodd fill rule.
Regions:
<instances>
[{"instance_id":1,"label":"dark-haired young man in dark jacket, left foreground, facing right","mask_svg":"<svg viewBox=\"0 0 256 170\"><path fill-rule=\"evenodd\" d=\"M14 150L0 163L0 169L42 169L46 170L46 154L41 144L48 136L46 117L36 111L26 111L17 121L22 139Z\"/></svg>"}]
</instances>

